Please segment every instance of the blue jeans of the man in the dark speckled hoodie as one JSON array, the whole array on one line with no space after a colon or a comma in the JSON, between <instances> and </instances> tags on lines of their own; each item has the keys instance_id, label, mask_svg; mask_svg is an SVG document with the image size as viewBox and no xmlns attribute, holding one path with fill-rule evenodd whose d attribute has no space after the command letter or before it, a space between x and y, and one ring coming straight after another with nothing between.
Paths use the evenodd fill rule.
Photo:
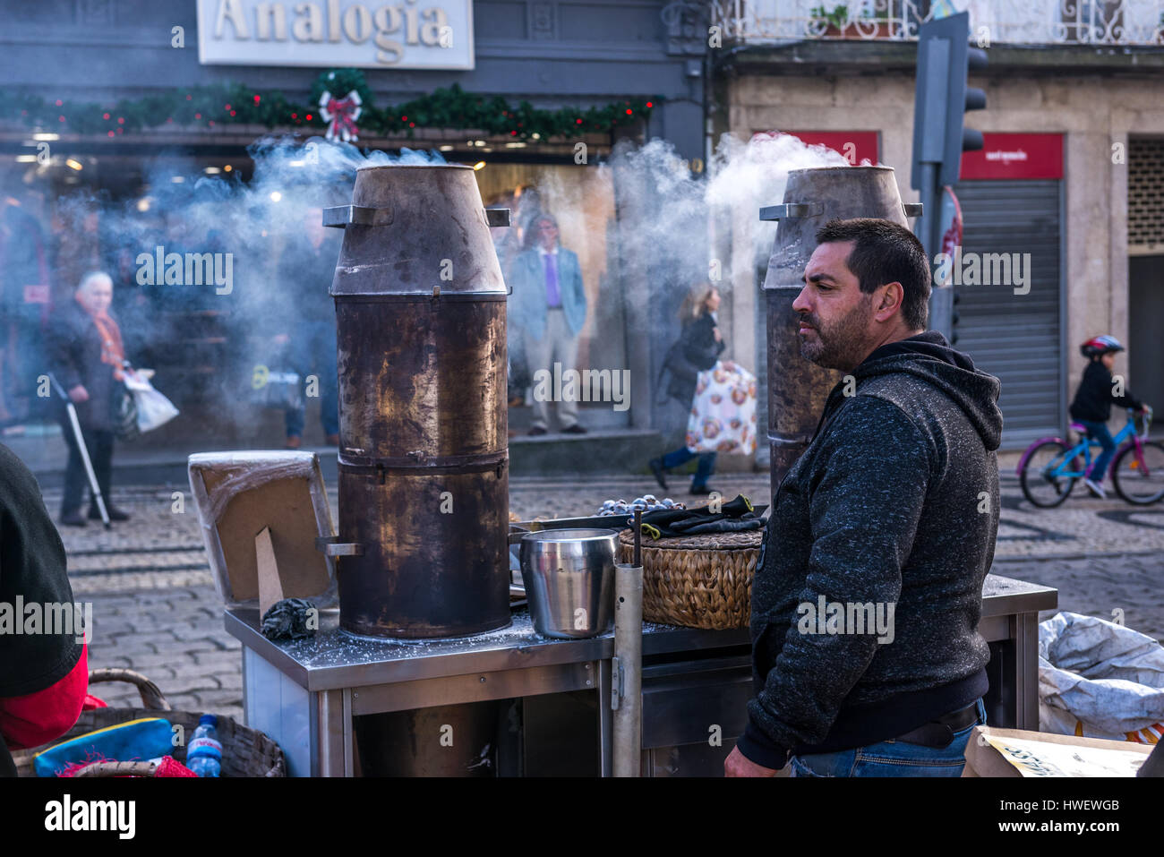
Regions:
<instances>
[{"instance_id":1,"label":"blue jeans of the man in the dark speckled hoodie","mask_svg":"<svg viewBox=\"0 0 1164 857\"><path fill-rule=\"evenodd\" d=\"M978 725L986 723L986 706L978 701ZM966 744L973 725L953 734L949 746L932 748L882 741L856 750L794 756L793 777L961 777Z\"/></svg>"}]
</instances>

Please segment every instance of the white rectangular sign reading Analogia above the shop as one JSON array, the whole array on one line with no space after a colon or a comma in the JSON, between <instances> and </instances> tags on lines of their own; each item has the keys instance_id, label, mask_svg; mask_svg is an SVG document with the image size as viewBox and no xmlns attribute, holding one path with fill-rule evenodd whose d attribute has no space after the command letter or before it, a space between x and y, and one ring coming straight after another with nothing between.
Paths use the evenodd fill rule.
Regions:
<instances>
[{"instance_id":1,"label":"white rectangular sign reading Analogia above the shop","mask_svg":"<svg viewBox=\"0 0 1164 857\"><path fill-rule=\"evenodd\" d=\"M473 0L197 2L204 65L473 68Z\"/></svg>"}]
</instances>

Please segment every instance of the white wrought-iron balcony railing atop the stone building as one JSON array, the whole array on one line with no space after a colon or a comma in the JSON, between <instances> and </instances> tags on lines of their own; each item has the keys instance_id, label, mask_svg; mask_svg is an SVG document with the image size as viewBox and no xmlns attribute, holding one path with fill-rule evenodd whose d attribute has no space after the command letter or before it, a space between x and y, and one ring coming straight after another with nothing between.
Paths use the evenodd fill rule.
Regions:
<instances>
[{"instance_id":1,"label":"white wrought-iron balcony railing atop the stone building","mask_svg":"<svg viewBox=\"0 0 1164 857\"><path fill-rule=\"evenodd\" d=\"M971 37L991 44L1164 45L1164 0L712 0L723 41L913 41L932 17L970 13Z\"/></svg>"}]
</instances>

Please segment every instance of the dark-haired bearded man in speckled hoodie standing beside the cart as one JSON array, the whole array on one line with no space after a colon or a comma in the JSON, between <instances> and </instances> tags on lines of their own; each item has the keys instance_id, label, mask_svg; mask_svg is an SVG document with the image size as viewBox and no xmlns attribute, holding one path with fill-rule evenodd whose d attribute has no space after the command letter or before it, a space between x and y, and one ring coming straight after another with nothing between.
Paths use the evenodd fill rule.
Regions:
<instances>
[{"instance_id":1,"label":"dark-haired bearded man in speckled hoodie standing beside the cart","mask_svg":"<svg viewBox=\"0 0 1164 857\"><path fill-rule=\"evenodd\" d=\"M816 239L801 353L845 377L773 497L755 697L724 770L958 777L985 722L999 381L925 332L930 267L908 229L833 220Z\"/></svg>"}]
</instances>

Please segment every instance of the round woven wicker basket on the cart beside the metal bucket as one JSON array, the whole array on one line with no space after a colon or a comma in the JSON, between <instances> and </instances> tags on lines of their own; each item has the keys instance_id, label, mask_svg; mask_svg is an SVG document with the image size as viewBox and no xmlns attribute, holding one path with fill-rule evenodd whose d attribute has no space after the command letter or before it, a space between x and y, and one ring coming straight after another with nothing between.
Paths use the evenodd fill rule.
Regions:
<instances>
[{"instance_id":1,"label":"round woven wicker basket on the cart beside the metal bucket","mask_svg":"<svg viewBox=\"0 0 1164 857\"><path fill-rule=\"evenodd\" d=\"M643 618L667 625L747 628L752 575L762 530L643 541ZM619 561L631 562L634 536L618 536Z\"/></svg>"}]
</instances>

